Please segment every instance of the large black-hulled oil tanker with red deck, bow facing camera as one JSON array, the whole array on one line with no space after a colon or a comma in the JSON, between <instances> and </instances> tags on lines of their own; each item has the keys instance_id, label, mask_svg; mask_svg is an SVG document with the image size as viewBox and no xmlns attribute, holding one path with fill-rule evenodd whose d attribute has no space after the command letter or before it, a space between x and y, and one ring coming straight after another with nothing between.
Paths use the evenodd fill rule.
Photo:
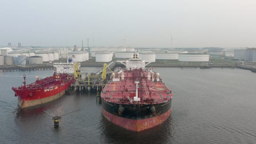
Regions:
<instances>
[{"instance_id":1,"label":"large black-hulled oil tanker with red deck, bow facing camera","mask_svg":"<svg viewBox=\"0 0 256 144\"><path fill-rule=\"evenodd\" d=\"M137 53L118 68L101 91L102 113L112 123L131 131L143 131L163 123L171 115L172 91L159 73L146 69Z\"/></svg>"}]
</instances>

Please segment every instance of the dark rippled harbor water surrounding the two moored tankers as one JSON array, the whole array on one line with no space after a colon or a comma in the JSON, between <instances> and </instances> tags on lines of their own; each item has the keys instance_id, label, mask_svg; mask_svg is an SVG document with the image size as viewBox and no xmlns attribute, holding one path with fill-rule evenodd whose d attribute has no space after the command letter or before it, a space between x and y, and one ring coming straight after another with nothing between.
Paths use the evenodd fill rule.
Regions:
<instances>
[{"instance_id":1,"label":"dark rippled harbor water surrounding the two moored tankers","mask_svg":"<svg viewBox=\"0 0 256 144\"><path fill-rule=\"evenodd\" d=\"M94 68L88 72L96 72ZM173 92L162 124L132 132L109 122L97 92L73 92L20 109L12 86L52 75L52 70L0 72L0 143L256 143L256 73L230 68L154 68ZM77 111L76 111L77 110ZM62 116L54 128L48 113Z\"/></svg>"}]
</instances>

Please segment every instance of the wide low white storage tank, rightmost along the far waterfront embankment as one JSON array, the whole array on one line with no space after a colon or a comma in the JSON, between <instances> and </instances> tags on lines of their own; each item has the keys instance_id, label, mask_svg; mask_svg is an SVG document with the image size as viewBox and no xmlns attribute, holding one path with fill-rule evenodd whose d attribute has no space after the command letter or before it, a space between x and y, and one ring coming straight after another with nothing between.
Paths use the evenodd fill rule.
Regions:
<instances>
[{"instance_id":1,"label":"wide low white storage tank, rightmost along the far waterfront embankment","mask_svg":"<svg viewBox=\"0 0 256 144\"><path fill-rule=\"evenodd\" d=\"M209 54L179 53L179 61L209 61Z\"/></svg>"}]
</instances>

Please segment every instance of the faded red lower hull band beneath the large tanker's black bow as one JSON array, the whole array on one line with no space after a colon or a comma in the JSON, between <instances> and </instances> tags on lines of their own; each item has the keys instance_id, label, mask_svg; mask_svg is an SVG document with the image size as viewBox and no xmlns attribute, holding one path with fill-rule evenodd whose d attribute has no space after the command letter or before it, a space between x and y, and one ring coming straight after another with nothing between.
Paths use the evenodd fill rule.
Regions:
<instances>
[{"instance_id":1,"label":"faded red lower hull band beneath the large tanker's black bow","mask_svg":"<svg viewBox=\"0 0 256 144\"><path fill-rule=\"evenodd\" d=\"M107 112L104 108L102 108L102 114L109 121L111 121L112 123L118 126L121 126L131 131L140 132L163 123L171 115L171 108L162 115L155 116L152 118L147 118L147 119L141 119L141 120L133 120L133 119L123 118L120 116L115 116Z\"/></svg>"}]
</instances>

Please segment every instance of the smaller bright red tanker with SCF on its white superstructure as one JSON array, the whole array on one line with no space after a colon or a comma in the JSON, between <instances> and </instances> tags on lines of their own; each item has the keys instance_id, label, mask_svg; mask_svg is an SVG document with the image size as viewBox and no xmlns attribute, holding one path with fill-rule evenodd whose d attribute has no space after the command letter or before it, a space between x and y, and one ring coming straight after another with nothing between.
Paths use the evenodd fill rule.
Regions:
<instances>
[{"instance_id":1,"label":"smaller bright red tanker with SCF on its white superstructure","mask_svg":"<svg viewBox=\"0 0 256 144\"><path fill-rule=\"evenodd\" d=\"M26 108L50 102L60 98L65 94L65 90L75 81L75 74L80 67L80 63L54 63L53 76L39 79L36 82L26 85L26 75L23 75L23 84L19 87L12 87L15 96L18 97L20 108Z\"/></svg>"}]
</instances>

